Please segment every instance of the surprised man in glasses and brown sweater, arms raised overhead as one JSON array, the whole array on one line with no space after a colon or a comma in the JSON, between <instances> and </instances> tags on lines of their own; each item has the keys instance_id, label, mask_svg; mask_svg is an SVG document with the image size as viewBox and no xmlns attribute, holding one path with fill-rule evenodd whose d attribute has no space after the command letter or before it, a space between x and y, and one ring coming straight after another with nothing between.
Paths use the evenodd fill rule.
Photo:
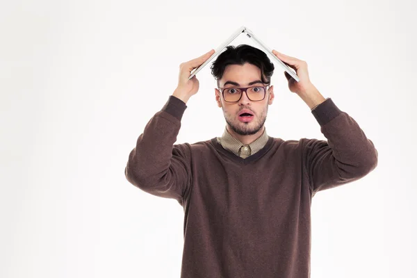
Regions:
<instances>
[{"instance_id":1,"label":"surprised man in glasses and brown sweater, arms raised overhead","mask_svg":"<svg viewBox=\"0 0 417 278\"><path fill-rule=\"evenodd\" d=\"M227 47L212 66L223 135L174 145L186 103L199 89L196 76L188 76L211 54L181 63L177 88L129 154L126 179L183 206L181 278L309 277L311 199L366 176L377 166L377 150L352 117L322 97L306 62L275 50L300 77L285 72L327 141L268 136L263 124L274 99L274 67L245 44Z\"/></svg>"}]
</instances>

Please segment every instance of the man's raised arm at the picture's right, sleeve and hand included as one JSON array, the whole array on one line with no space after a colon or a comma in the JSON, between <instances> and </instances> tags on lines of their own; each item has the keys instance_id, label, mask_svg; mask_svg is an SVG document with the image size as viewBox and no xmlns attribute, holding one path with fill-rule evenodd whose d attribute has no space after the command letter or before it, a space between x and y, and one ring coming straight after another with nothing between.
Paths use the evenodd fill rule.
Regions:
<instances>
[{"instance_id":1,"label":"man's raised arm at the picture's right, sleeve and hand included","mask_svg":"<svg viewBox=\"0 0 417 278\"><path fill-rule=\"evenodd\" d=\"M378 152L357 122L340 111L332 99L323 97L310 81L307 63L275 49L279 59L292 67L300 81L287 72L288 88L311 108L325 140L300 140L304 172L309 177L312 195L364 177L377 167Z\"/></svg>"}]
</instances>

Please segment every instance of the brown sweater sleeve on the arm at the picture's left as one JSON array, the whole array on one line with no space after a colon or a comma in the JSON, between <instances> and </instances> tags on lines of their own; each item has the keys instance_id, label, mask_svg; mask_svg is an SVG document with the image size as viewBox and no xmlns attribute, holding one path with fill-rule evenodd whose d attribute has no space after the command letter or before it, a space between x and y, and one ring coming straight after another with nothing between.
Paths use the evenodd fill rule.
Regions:
<instances>
[{"instance_id":1,"label":"brown sweater sleeve on the arm at the picture's left","mask_svg":"<svg viewBox=\"0 0 417 278\"><path fill-rule=\"evenodd\" d=\"M126 179L158 197L176 199L181 205L190 187L190 145L177 144L186 104L170 96L161 111L149 120L129 154Z\"/></svg>"}]
</instances>

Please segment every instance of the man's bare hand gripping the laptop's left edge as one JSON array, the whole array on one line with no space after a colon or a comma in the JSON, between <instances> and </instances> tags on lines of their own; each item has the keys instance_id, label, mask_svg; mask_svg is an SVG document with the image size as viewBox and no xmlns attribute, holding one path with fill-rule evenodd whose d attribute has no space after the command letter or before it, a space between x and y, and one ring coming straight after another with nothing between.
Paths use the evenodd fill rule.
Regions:
<instances>
[{"instance_id":1,"label":"man's bare hand gripping the laptop's left edge","mask_svg":"<svg viewBox=\"0 0 417 278\"><path fill-rule=\"evenodd\" d=\"M206 54L179 65L178 86L172 94L174 97L178 97L187 103L188 99L198 92L199 81L197 76L193 76L190 80L188 80L188 77L190 77L192 70L206 62L206 60L210 58L213 53L214 49L211 49L211 51L208 51Z\"/></svg>"}]
</instances>

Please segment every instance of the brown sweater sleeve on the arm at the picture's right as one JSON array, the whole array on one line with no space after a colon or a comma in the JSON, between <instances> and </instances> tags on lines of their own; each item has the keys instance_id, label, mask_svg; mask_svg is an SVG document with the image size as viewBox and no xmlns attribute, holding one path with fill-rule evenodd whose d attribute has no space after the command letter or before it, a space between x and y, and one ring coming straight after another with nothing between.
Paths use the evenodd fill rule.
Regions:
<instances>
[{"instance_id":1,"label":"brown sweater sleeve on the arm at the picture's right","mask_svg":"<svg viewBox=\"0 0 417 278\"><path fill-rule=\"evenodd\" d=\"M331 98L311 111L326 140L302 138L302 156L312 194L356 181L377 167L378 152L357 122Z\"/></svg>"}]
</instances>

